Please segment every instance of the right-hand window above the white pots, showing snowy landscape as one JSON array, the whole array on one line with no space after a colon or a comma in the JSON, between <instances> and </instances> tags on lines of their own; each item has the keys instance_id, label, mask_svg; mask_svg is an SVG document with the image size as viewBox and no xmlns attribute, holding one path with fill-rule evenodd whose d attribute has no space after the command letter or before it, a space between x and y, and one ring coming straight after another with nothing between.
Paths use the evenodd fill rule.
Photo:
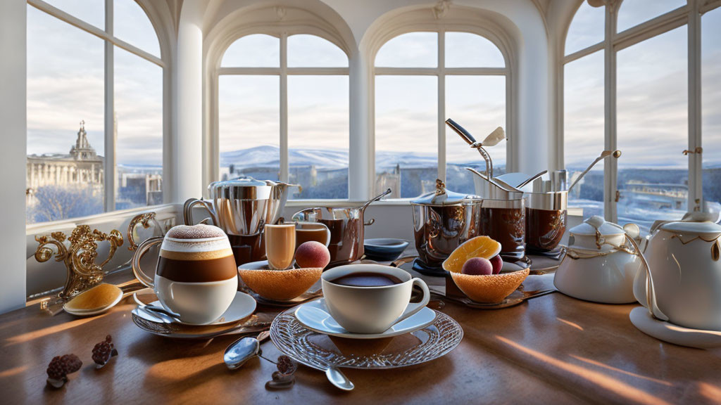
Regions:
<instances>
[{"instance_id":1,"label":"right-hand window above the white pots, showing snowy landscape","mask_svg":"<svg viewBox=\"0 0 721 405\"><path fill-rule=\"evenodd\" d=\"M564 61L565 165L571 181L601 150L622 151L620 159L586 175L570 195L570 204L583 208L585 217L605 213L610 221L647 229L654 220L680 219L687 211L707 210L704 200L720 199L708 191L717 173L706 153L714 152L701 147L702 105L696 94L702 85L699 74L689 71L698 66L700 73L702 65L702 54L688 48L689 35L703 22L704 35L716 38L714 22L706 22L713 17L700 18L708 11L683 0L580 5L567 32ZM717 50L708 46L704 63ZM709 84L703 89L714 92ZM703 102L704 123L712 122L718 109L713 111L705 96ZM715 142L712 133L704 127L704 143Z\"/></svg>"}]
</instances>

